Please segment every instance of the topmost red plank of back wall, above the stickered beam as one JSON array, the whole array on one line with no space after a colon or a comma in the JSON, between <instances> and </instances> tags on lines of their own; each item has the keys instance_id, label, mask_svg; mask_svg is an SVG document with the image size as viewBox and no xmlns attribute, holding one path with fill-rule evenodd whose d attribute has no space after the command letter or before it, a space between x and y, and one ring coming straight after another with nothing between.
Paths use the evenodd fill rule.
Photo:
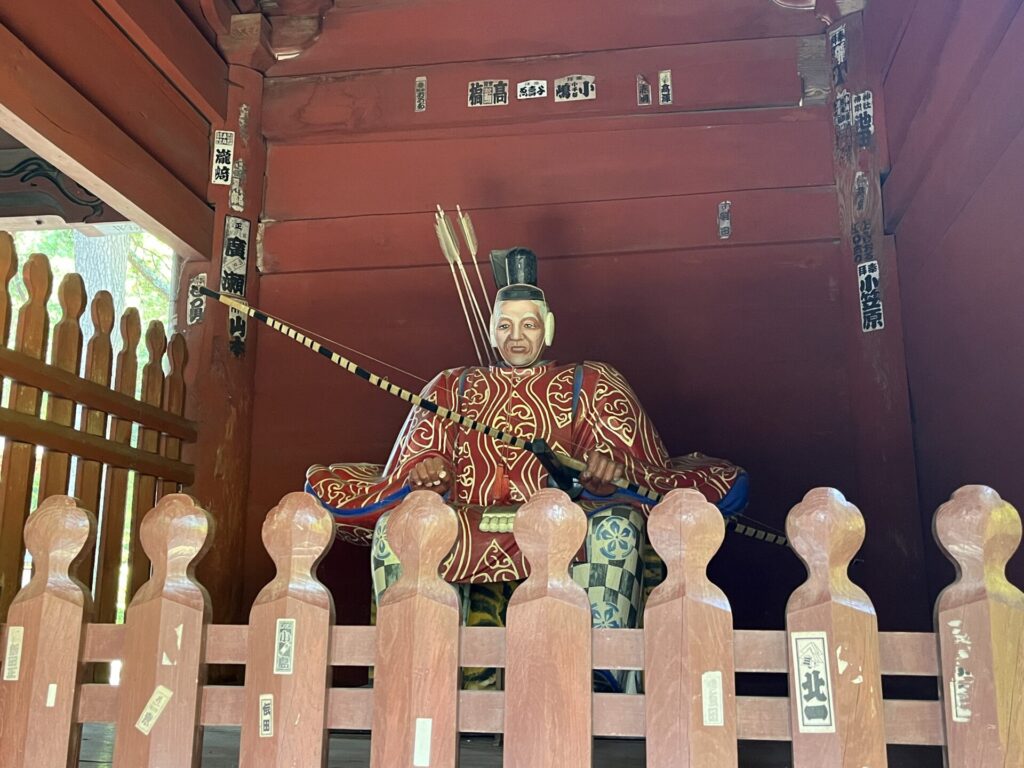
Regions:
<instances>
[{"instance_id":1,"label":"topmost red plank of back wall, above the stickered beam","mask_svg":"<svg viewBox=\"0 0 1024 768\"><path fill-rule=\"evenodd\" d=\"M279 61L270 76L311 75L409 65L511 58L652 45L822 32L813 13L769 0L624 3L620 0L522 0L480 3L377 3L329 11L319 40ZM511 31L514 30L514 34ZM429 31L429 33L425 33ZM489 33L487 31L494 31ZM499 32L501 31L501 32Z\"/></svg>"}]
</instances>

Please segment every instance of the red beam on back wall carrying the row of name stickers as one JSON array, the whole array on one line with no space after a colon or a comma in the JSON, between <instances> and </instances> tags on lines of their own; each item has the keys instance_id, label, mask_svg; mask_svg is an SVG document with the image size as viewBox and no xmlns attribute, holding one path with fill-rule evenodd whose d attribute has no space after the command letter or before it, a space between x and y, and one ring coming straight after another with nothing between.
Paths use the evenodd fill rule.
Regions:
<instances>
[{"instance_id":1,"label":"red beam on back wall carrying the row of name stickers","mask_svg":"<svg viewBox=\"0 0 1024 768\"><path fill-rule=\"evenodd\" d=\"M520 123L582 116L658 114L697 110L797 106L803 96L798 57L804 38L632 48L515 61L433 65L267 82L264 127L274 141L432 127ZM659 105L658 72L673 72L673 99ZM599 98L556 103L518 99L517 82L571 73L597 78ZM637 106L636 76L653 84L653 104ZM413 110L415 81L427 78L427 109ZM467 105L470 80L504 79L513 91L505 106Z\"/></svg>"}]
</instances>

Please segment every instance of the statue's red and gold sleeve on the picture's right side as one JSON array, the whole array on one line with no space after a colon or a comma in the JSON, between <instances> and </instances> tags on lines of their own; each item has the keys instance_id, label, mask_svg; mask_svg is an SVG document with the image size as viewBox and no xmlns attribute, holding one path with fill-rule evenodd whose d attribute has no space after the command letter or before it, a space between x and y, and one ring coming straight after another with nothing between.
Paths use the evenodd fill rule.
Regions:
<instances>
[{"instance_id":1,"label":"statue's red and gold sleeve on the picture's right side","mask_svg":"<svg viewBox=\"0 0 1024 768\"><path fill-rule=\"evenodd\" d=\"M584 364L573 443L581 459L595 449L610 452L630 482L660 493L693 487L713 503L721 501L742 473L728 461L702 454L670 458L632 387L603 362Z\"/></svg>"}]
</instances>

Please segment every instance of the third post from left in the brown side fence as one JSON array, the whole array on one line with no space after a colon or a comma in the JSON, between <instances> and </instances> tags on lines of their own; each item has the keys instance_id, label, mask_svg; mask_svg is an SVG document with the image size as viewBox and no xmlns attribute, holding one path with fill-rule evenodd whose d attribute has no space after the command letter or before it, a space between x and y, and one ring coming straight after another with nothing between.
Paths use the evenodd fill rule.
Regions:
<instances>
[{"instance_id":1,"label":"third post from left in the brown side fence","mask_svg":"<svg viewBox=\"0 0 1024 768\"><path fill-rule=\"evenodd\" d=\"M79 318L85 311L85 283L81 274L66 274L57 289L60 300L60 321L53 328L50 365L78 376L82 365L82 329ZM50 394L46 402L46 420L66 427L75 424L75 401ZM71 456L49 449L43 452L39 473L39 498L46 499L68 493L71 479Z\"/></svg>"}]
</instances>

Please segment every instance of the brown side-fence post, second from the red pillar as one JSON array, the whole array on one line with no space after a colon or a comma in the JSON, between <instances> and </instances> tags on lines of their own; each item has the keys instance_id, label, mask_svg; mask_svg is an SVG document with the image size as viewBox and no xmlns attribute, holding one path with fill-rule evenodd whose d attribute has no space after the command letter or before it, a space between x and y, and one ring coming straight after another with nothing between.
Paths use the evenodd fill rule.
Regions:
<instances>
[{"instance_id":1,"label":"brown side-fence post, second from the red pillar","mask_svg":"<svg viewBox=\"0 0 1024 768\"><path fill-rule=\"evenodd\" d=\"M139 399L150 406L160 408L164 396L164 352L167 350L167 336L164 324L152 321L145 329L145 348L150 360L142 368L142 392ZM160 450L160 432L140 426L137 447L156 454ZM135 499L132 503L131 536L128 545L128 596L135 594L142 582L150 578L150 560L138 537L138 525L146 510L157 503L157 478L153 475L135 473Z\"/></svg>"}]
</instances>

